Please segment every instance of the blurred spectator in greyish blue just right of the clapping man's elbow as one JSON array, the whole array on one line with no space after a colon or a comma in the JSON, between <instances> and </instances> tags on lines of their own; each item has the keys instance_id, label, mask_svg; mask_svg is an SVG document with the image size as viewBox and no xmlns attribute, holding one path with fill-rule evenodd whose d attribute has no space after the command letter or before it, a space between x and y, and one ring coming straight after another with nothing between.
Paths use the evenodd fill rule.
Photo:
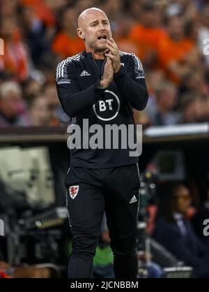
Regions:
<instances>
[{"instance_id":1,"label":"blurred spectator in greyish blue just right of the clapping man's elbow","mask_svg":"<svg viewBox=\"0 0 209 292\"><path fill-rule=\"evenodd\" d=\"M158 88L156 104L148 108L148 116L153 126L167 126L178 123L178 115L174 108L177 104L177 91L171 83L165 83Z\"/></svg>"}]
</instances>

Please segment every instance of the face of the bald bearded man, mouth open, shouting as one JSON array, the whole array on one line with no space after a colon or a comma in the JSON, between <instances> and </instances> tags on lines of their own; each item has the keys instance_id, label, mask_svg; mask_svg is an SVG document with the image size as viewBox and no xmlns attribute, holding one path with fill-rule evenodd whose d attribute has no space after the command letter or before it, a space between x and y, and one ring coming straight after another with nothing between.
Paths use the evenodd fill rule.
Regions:
<instances>
[{"instance_id":1,"label":"face of the bald bearded man, mouth open, shouting","mask_svg":"<svg viewBox=\"0 0 209 292\"><path fill-rule=\"evenodd\" d=\"M86 51L105 51L107 39L111 38L111 28L107 16L100 11L91 11L82 19L78 29L79 38L86 44Z\"/></svg>"}]
</instances>

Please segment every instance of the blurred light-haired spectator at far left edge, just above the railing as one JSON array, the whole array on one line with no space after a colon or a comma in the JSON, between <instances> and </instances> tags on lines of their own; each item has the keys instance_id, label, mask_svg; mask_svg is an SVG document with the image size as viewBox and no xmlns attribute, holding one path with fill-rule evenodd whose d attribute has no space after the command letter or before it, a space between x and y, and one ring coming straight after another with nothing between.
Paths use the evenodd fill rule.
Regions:
<instances>
[{"instance_id":1,"label":"blurred light-haired spectator at far left edge, just above the railing","mask_svg":"<svg viewBox=\"0 0 209 292\"><path fill-rule=\"evenodd\" d=\"M0 127L29 126L26 105L22 99L22 89L12 81L0 87Z\"/></svg>"}]
</instances>

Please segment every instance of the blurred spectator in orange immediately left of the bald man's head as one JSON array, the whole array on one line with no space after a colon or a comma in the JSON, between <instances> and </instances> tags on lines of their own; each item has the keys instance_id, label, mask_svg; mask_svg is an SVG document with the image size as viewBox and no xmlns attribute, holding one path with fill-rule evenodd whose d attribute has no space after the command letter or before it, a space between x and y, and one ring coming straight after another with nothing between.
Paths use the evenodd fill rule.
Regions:
<instances>
[{"instance_id":1,"label":"blurred spectator in orange immediately left of the bald man's head","mask_svg":"<svg viewBox=\"0 0 209 292\"><path fill-rule=\"evenodd\" d=\"M84 49L84 41L77 35L77 10L68 8L61 17L61 31L54 38L52 51L61 58L67 58Z\"/></svg>"}]
</instances>

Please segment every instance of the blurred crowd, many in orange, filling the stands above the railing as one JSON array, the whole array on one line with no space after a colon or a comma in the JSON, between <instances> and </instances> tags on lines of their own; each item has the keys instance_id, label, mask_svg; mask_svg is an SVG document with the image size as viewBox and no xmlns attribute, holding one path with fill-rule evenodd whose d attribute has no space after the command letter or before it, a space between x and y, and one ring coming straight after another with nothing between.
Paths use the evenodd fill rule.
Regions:
<instances>
[{"instance_id":1,"label":"blurred crowd, many in orange, filling the stands above the railing","mask_svg":"<svg viewBox=\"0 0 209 292\"><path fill-rule=\"evenodd\" d=\"M145 111L136 111L136 122L145 127L208 122L207 2L0 0L0 128L70 122L56 95L55 70L84 50L77 17L93 6L107 13L119 49L144 65L150 99Z\"/></svg>"}]
</instances>

